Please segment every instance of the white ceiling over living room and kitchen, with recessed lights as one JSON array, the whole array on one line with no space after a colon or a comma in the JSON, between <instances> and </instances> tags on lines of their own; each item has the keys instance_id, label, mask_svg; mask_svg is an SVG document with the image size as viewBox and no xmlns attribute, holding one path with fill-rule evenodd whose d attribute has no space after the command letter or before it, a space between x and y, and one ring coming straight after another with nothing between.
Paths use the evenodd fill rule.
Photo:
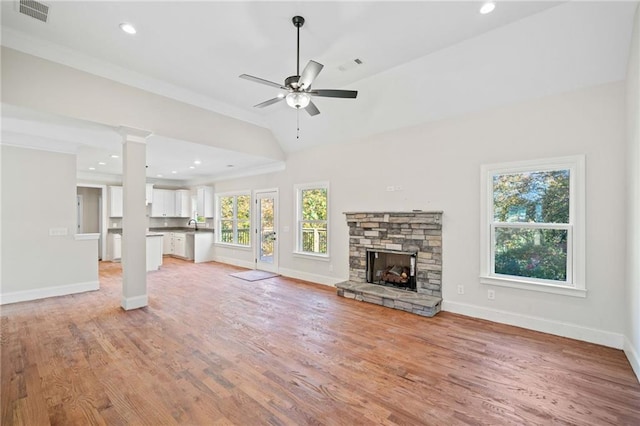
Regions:
<instances>
[{"instance_id":1,"label":"white ceiling over living room and kitchen, with recessed lights","mask_svg":"<svg viewBox=\"0 0 640 426\"><path fill-rule=\"evenodd\" d=\"M637 7L503 1L480 15L478 1L45 3L46 24L3 1L2 44L266 127L285 152L624 79ZM286 104L252 108L278 89L238 78L282 82L295 74L294 15L306 19L301 67L310 59L325 65L314 87L359 91L355 100L314 100L321 114L300 113L299 139L297 113ZM138 33L125 34L121 22ZM356 58L363 64L339 69ZM3 133L7 123L40 126L38 137L52 126L114 133L4 107ZM110 158L114 145L107 139L78 142L79 170ZM161 136L148 144L148 159L150 177L181 180L281 166ZM203 164L189 169L196 159ZM103 172L119 173L118 161L112 163ZM179 172L171 176L172 170Z\"/></svg>"}]
</instances>

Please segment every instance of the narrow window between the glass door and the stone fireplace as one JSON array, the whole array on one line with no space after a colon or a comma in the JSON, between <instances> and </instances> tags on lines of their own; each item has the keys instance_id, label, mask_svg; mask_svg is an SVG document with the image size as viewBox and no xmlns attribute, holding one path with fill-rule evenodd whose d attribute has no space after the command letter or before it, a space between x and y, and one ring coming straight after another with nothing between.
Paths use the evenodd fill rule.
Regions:
<instances>
[{"instance_id":1,"label":"narrow window between the glass door and the stone fireplace","mask_svg":"<svg viewBox=\"0 0 640 426\"><path fill-rule=\"evenodd\" d=\"M297 252L327 256L329 185L297 185Z\"/></svg>"}]
</instances>

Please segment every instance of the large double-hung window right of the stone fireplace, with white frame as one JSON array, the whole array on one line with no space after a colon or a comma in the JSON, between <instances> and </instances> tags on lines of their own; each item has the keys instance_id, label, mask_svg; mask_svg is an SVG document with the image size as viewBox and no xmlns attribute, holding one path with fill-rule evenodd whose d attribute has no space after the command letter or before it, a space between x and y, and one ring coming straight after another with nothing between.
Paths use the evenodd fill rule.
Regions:
<instances>
[{"instance_id":1,"label":"large double-hung window right of the stone fireplace, with white frame","mask_svg":"<svg viewBox=\"0 0 640 426\"><path fill-rule=\"evenodd\" d=\"M481 282L585 296L584 157L482 167Z\"/></svg>"}]
</instances>

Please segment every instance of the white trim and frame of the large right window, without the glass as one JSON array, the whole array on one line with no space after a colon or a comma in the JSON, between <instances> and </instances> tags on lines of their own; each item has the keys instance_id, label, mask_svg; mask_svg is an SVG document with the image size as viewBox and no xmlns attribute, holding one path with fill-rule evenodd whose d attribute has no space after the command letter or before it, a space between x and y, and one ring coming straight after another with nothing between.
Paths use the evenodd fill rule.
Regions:
<instances>
[{"instance_id":1,"label":"white trim and frame of the large right window, without the glass","mask_svg":"<svg viewBox=\"0 0 640 426\"><path fill-rule=\"evenodd\" d=\"M545 224L531 224L524 227L558 227L558 229L569 230L570 238L568 238L569 244L567 246L568 282L559 284L550 280L494 274L492 272L494 244L491 240L491 229L493 227L493 176L505 173L560 169L569 169L571 174L569 224L547 226ZM586 174L584 155L482 165L480 173L480 283L565 296L586 297ZM500 226L510 225L501 223ZM516 224L515 226L521 228L523 224Z\"/></svg>"}]
</instances>

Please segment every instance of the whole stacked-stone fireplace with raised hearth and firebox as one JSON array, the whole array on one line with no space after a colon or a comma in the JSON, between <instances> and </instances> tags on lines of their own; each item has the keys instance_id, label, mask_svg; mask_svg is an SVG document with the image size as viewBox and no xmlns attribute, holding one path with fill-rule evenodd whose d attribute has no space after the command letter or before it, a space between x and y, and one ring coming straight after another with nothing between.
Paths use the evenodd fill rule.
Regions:
<instances>
[{"instance_id":1,"label":"whole stacked-stone fireplace with raised hearth and firebox","mask_svg":"<svg viewBox=\"0 0 640 426\"><path fill-rule=\"evenodd\" d=\"M338 295L433 316L442 304L442 212L349 212Z\"/></svg>"}]
</instances>

